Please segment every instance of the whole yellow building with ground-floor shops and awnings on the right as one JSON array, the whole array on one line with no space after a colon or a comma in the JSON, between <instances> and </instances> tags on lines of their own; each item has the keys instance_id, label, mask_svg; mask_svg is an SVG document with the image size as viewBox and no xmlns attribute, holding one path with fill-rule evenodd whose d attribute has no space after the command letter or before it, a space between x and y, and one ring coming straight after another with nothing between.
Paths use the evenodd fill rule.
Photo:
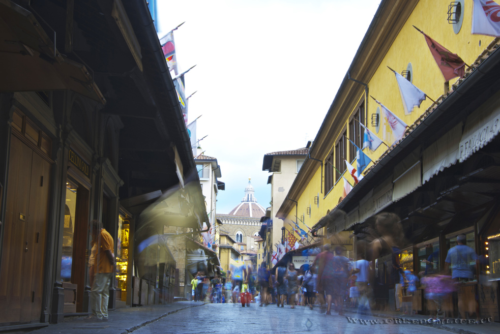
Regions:
<instances>
[{"instance_id":1,"label":"whole yellow building with ground-floor shops and awnings on the right","mask_svg":"<svg viewBox=\"0 0 500 334\"><path fill-rule=\"evenodd\" d=\"M332 243L354 235L355 252L369 254L374 216L393 212L404 232L401 266L422 275L443 270L465 234L485 261L471 264L474 278L447 297L445 309L457 317L453 300L480 295L478 318L500 321L500 40L471 34L472 17L472 1L380 2L277 216L295 221L310 208L312 234L322 231ZM399 88L408 83L421 90L411 88L417 102L409 106ZM375 136L385 144L371 146ZM369 158L364 168L361 152ZM346 162L361 169L361 180L353 173L359 183ZM391 255L372 260L375 300L394 308ZM433 307L421 289L403 300L421 314Z\"/></svg>"}]
</instances>

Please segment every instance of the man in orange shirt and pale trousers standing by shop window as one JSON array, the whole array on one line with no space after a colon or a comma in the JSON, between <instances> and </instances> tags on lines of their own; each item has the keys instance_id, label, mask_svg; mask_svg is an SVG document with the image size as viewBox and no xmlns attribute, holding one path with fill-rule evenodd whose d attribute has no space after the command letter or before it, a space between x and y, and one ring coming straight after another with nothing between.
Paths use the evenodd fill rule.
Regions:
<instances>
[{"instance_id":1,"label":"man in orange shirt and pale trousers standing by shop window","mask_svg":"<svg viewBox=\"0 0 500 334\"><path fill-rule=\"evenodd\" d=\"M97 243L97 254L94 284L91 289L93 315L89 318L108 321L109 284L114 271L114 241L98 220L92 221L92 234Z\"/></svg>"}]
</instances>

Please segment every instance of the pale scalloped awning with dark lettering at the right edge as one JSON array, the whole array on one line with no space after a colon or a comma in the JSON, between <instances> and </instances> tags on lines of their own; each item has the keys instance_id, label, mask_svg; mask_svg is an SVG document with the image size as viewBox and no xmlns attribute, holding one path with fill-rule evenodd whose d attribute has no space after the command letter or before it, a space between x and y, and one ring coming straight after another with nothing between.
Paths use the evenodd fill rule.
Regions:
<instances>
[{"instance_id":1,"label":"pale scalloped awning with dark lettering at the right edge","mask_svg":"<svg viewBox=\"0 0 500 334\"><path fill-rule=\"evenodd\" d=\"M478 115L477 122L471 122L475 119L467 119L465 130L460 140L459 152L460 162L463 162L473 153L478 151L484 145L489 143L500 131L500 107L496 107L490 115L481 117ZM473 123L473 124L470 124Z\"/></svg>"}]
</instances>

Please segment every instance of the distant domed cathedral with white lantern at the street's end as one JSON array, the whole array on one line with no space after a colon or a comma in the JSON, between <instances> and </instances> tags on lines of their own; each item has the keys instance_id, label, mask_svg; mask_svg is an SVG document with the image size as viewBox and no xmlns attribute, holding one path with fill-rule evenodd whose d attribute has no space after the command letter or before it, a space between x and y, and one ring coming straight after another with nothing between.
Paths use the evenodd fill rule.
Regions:
<instances>
[{"instance_id":1,"label":"distant domed cathedral with white lantern at the street's end","mask_svg":"<svg viewBox=\"0 0 500 334\"><path fill-rule=\"evenodd\" d=\"M266 210L255 198L255 190L249 178L241 202L229 214L217 214L217 219L222 223L221 233L226 233L236 242L243 242L249 250L255 249L253 237L258 236L260 218L265 212Z\"/></svg>"}]
</instances>

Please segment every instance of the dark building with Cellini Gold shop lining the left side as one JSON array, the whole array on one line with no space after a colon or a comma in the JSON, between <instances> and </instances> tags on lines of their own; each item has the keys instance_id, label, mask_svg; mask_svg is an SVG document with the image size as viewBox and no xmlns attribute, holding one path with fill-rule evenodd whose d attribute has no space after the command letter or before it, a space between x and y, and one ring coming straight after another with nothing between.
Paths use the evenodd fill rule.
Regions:
<instances>
[{"instance_id":1,"label":"dark building with Cellini Gold shop lining the left side","mask_svg":"<svg viewBox=\"0 0 500 334\"><path fill-rule=\"evenodd\" d=\"M94 219L114 239L110 309L173 300L164 226L210 222L146 3L1 0L0 22L0 329L89 313ZM139 220L169 190L178 211Z\"/></svg>"}]
</instances>

